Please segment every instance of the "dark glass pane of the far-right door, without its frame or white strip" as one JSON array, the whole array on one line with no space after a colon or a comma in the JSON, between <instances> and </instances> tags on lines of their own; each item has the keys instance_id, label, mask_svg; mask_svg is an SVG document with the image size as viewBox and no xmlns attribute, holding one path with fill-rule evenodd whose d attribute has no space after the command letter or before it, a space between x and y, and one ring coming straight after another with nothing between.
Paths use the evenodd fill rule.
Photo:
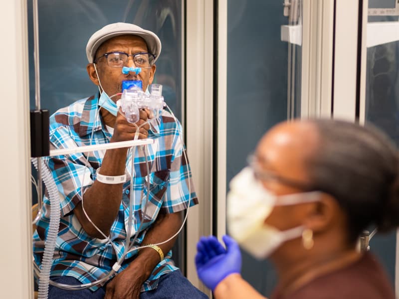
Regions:
<instances>
[{"instance_id":1,"label":"dark glass pane of the far-right door, without its frame or white strip","mask_svg":"<svg viewBox=\"0 0 399 299\"><path fill-rule=\"evenodd\" d=\"M392 8L395 0L370 0L369 8ZM369 13L372 10L369 10ZM369 22L398 21L398 16L369 15ZM367 49L366 123L387 133L399 145L399 41ZM377 234L370 241L370 250L383 262L394 283L396 232Z\"/></svg>"}]
</instances>

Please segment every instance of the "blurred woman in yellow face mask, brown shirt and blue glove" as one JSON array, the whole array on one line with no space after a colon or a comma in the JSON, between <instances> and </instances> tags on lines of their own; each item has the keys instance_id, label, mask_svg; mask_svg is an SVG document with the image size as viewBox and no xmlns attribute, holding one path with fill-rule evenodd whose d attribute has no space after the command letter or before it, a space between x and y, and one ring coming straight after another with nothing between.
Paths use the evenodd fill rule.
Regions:
<instances>
[{"instance_id":1,"label":"blurred woman in yellow face mask, brown shirt and blue glove","mask_svg":"<svg viewBox=\"0 0 399 299\"><path fill-rule=\"evenodd\" d=\"M264 298L240 276L239 246L269 258L272 299L395 299L363 230L399 224L397 149L375 129L334 120L281 123L230 182L226 248L202 237L200 280L216 299Z\"/></svg>"}]
</instances>

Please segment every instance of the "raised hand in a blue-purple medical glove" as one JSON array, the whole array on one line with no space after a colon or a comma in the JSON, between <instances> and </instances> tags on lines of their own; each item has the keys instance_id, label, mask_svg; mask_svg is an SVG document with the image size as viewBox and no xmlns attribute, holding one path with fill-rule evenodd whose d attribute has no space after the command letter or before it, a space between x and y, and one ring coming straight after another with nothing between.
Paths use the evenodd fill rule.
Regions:
<instances>
[{"instance_id":1,"label":"raised hand in a blue-purple medical glove","mask_svg":"<svg viewBox=\"0 0 399 299\"><path fill-rule=\"evenodd\" d=\"M216 237L201 237L197 243L197 274L203 284L213 290L228 275L240 273L241 253L238 244L229 236L222 237L226 249Z\"/></svg>"}]
</instances>

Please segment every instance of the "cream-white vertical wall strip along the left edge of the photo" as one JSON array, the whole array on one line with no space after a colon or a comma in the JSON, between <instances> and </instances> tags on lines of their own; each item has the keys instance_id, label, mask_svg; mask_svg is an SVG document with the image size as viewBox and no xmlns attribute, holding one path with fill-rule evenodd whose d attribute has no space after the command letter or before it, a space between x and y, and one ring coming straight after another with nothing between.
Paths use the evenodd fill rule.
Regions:
<instances>
[{"instance_id":1,"label":"cream-white vertical wall strip along the left edge of the photo","mask_svg":"<svg viewBox=\"0 0 399 299\"><path fill-rule=\"evenodd\" d=\"M0 9L1 298L32 298L27 17L24 0ZM28 146L27 146L28 145Z\"/></svg>"}]
</instances>

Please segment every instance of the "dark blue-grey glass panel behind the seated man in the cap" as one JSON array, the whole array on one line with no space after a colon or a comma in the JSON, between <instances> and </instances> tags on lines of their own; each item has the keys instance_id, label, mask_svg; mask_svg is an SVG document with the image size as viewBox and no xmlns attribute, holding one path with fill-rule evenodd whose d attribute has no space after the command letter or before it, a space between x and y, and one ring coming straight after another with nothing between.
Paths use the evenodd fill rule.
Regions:
<instances>
[{"instance_id":1,"label":"dark blue-grey glass panel behind the seated man in the cap","mask_svg":"<svg viewBox=\"0 0 399 299\"><path fill-rule=\"evenodd\" d=\"M153 83L176 117L182 116L182 0L40 0L38 2L41 108L50 114L98 93L86 71L86 43L109 23L131 22L154 31L162 42ZM35 107L32 0L28 0L30 108ZM34 177L36 173L32 167ZM43 189L44 190L44 189ZM33 203L37 194L32 189ZM185 272L184 233L174 260Z\"/></svg>"}]
</instances>

